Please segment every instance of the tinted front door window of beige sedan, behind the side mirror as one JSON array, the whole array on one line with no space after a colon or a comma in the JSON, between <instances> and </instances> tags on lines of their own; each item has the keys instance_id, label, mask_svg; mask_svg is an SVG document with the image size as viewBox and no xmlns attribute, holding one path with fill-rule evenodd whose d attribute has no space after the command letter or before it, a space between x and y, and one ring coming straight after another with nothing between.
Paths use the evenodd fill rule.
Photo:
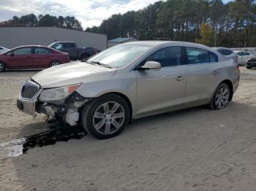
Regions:
<instances>
[{"instance_id":1,"label":"tinted front door window of beige sedan, behind the side mirror","mask_svg":"<svg viewBox=\"0 0 256 191\"><path fill-rule=\"evenodd\" d=\"M165 47L149 55L144 61L156 61L161 67L181 65L181 47Z\"/></svg>"}]
</instances>

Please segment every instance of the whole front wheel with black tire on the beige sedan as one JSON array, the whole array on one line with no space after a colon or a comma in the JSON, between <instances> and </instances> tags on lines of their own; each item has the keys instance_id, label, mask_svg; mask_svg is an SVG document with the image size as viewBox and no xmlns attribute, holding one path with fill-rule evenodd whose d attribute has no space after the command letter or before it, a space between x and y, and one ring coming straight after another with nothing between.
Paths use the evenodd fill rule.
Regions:
<instances>
[{"instance_id":1,"label":"whole front wheel with black tire on the beige sedan","mask_svg":"<svg viewBox=\"0 0 256 191\"><path fill-rule=\"evenodd\" d=\"M121 133L129 120L127 101L116 94L102 95L83 106L83 128L97 139L109 139Z\"/></svg>"}]
</instances>

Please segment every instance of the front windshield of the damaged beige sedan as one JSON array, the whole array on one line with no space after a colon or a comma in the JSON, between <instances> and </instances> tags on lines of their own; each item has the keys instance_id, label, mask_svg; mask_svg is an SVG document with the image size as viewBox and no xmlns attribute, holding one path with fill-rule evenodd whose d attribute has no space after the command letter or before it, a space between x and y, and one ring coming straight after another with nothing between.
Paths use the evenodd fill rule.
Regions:
<instances>
[{"instance_id":1,"label":"front windshield of the damaged beige sedan","mask_svg":"<svg viewBox=\"0 0 256 191\"><path fill-rule=\"evenodd\" d=\"M150 48L151 46L147 44L119 44L100 52L86 62L99 62L113 68L121 68Z\"/></svg>"}]
</instances>

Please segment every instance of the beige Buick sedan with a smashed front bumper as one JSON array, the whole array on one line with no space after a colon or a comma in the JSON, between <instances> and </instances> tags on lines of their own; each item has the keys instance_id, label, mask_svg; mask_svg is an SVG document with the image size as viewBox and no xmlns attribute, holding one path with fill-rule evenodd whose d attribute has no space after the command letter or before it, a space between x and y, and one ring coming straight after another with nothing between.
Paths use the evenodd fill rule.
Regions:
<instances>
[{"instance_id":1,"label":"beige Buick sedan with a smashed front bumper","mask_svg":"<svg viewBox=\"0 0 256 191\"><path fill-rule=\"evenodd\" d=\"M24 82L17 106L83 127L98 139L127 122L191 106L222 109L238 88L238 63L201 44L128 42L84 62L40 71Z\"/></svg>"}]
</instances>

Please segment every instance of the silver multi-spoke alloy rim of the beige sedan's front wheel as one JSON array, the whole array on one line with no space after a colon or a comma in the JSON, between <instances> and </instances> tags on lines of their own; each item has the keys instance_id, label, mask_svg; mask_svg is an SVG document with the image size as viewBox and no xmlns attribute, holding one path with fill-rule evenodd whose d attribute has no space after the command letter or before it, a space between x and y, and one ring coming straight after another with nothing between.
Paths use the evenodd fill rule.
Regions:
<instances>
[{"instance_id":1,"label":"silver multi-spoke alloy rim of the beige sedan's front wheel","mask_svg":"<svg viewBox=\"0 0 256 191\"><path fill-rule=\"evenodd\" d=\"M93 125L98 133L109 135L121 128L124 123L124 117L124 108L115 101L109 101L96 109Z\"/></svg>"}]
</instances>

